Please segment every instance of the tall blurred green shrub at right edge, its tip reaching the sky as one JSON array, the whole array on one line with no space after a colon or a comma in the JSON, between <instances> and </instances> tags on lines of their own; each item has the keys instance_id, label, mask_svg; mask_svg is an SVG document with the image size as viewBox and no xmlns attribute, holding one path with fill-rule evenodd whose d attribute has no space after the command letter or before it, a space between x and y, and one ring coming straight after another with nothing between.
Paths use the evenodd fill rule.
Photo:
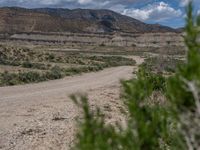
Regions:
<instances>
[{"instance_id":1,"label":"tall blurred green shrub at right edge, its tip reaching the sky","mask_svg":"<svg viewBox=\"0 0 200 150\"><path fill-rule=\"evenodd\" d=\"M169 100L190 150L200 148L200 16L193 16L192 10L190 3L185 28L187 63L179 66L167 86Z\"/></svg>"}]
</instances>

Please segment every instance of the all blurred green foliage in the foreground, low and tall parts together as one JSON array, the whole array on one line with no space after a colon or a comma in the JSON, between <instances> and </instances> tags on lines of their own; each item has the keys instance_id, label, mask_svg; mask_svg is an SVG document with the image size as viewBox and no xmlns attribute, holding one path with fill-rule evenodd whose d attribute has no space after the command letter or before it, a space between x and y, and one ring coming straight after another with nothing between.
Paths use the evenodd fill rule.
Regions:
<instances>
[{"instance_id":1,"label":"all blurred green foliage in the foreground, low and tall parts together","mask_svg":"<svg viewBox=\"0 0 200 150\"><path fill-rule=\"evenodd\" d=\"M187 12L186 64L167 79L141 68L137 79L122 82L122 98L128 110L127 127L107 125L99 109L90 109L85 96L72 96L84 114L74 149L200 148L200 45L197 42L200 17L192 16L191 3ZM152 97L155 92L165 99L163 104Z\"/></svg>"}]
</instances>

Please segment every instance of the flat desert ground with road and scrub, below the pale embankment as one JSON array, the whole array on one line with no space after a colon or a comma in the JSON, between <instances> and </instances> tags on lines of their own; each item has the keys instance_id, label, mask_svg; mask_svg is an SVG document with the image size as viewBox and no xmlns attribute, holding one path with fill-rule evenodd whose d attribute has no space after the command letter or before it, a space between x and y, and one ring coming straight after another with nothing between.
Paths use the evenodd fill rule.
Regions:
<instances>
[{"instance_id":1,"label":"flat desert ground with road and scrub, below the pale embankment","mask_svg":"<svg viewBox=\"0 0 200 150\"><path fill-rule=\"evenodd\" d=\"M70 149L77 119L81 119L81 112L69 98L74 93L87 93L91 106L100 107L108 123L123 124L126 117L121 113L120 80L136 77L138 66L145 62L157 64L156 69L152 68L157 72L170 74L174 63L184 59L181 47L181 55L174 51L178 46L169 46L170 50L162 46L60 46L37 42L2 42L1 149ZM165 53L162 58L161 53ZM53 79L58 80L49 81Z\"/></svg>"}]
</instances>

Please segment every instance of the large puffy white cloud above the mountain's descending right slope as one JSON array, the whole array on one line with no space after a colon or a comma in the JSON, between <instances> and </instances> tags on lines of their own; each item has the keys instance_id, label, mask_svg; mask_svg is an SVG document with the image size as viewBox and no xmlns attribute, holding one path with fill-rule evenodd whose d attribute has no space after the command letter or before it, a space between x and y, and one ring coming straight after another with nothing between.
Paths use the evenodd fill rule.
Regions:
<instances>
[{"instance_id":1,"label":"large puffy white cloud above the mountain's descending right slope","mask_svg":"<svg viewBox=\"0 0 200 150\"><path fill-rule=\"evenodd\" d=\"M180 9L176 10L165 2L158 2L150 4L141 9L137 8L126 8L122 11L123 15L127 15L141 21L163 21L182 15Z\"/></svg>"}]
</instances>

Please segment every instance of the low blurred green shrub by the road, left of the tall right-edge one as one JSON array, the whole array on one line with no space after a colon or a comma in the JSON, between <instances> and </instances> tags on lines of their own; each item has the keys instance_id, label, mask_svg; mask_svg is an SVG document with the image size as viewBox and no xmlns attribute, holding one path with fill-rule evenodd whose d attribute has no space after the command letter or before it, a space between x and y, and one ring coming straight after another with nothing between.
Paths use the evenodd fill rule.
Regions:
<instances>
[{"instance_id":1,"label":"low blurred green shrub by the road, left of the tall right-edge one","mask_svg":"<svg viewBox=\"0 0 200 150\"><path fill-rule=\"evenodd\" d=\"M106 125L99 109L90 110L87 98L72 96L84 112L75 149L162 149L170 147L184 149L179 132L171 129L176 124L169 105L146 105L154 91L164 93L165 79L141 69L138 79L123 82L123 99L129 112L127 128ZM116 129L117 128L117 129Z\"/></svg>"}]
</instances>

